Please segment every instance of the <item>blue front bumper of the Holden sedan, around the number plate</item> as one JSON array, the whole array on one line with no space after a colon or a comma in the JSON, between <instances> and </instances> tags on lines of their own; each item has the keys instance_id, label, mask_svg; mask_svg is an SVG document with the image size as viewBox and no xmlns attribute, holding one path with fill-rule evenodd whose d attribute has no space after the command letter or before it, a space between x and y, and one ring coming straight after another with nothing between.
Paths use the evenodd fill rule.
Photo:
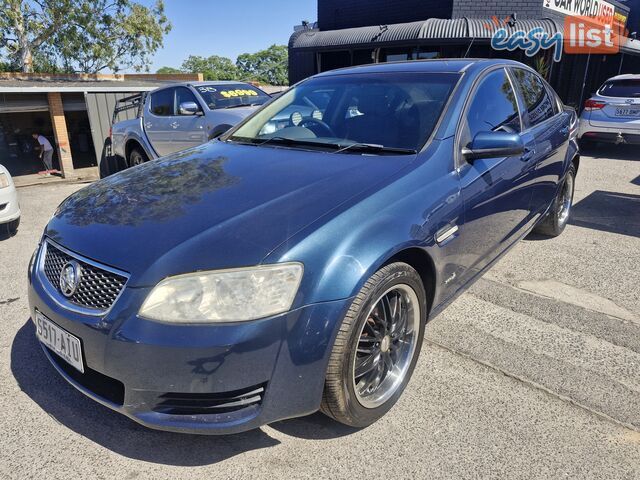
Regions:
<instances>
[{"instance_id":1,"label":"blue front bumper of the Holden sedan, around the number plate","mask_svg":"<svg viewBox=\"0 0 640 480\"><path fill-rule=\"evenodd\" d=\"M137 316L148 289L125 288L104 317L91 317L54 302L42 282L34 272L32 318L38 310L80 338L84 354L81 374L43 346L58 372L138 423L184 433L237 433L317 411L336 326L350 304L309 305L238 324L178 326ZM222 411L212 406L250 392L259 392L258 402Z\"/></svg>"}]
</instances>

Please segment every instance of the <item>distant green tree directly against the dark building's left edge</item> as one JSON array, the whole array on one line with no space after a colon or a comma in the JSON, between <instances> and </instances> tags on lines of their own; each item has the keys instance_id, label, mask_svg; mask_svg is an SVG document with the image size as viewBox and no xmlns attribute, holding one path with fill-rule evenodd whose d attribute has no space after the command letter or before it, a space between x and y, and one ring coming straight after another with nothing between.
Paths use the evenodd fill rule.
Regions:
<instances>
[{"instance_id":1,"label":"distant green tree directly against the dark building's left edge","mask_svg":"<svg viewBox=\"0 0 640 480\"><path fill-rule=\"evenodd\" d=\"M238 56L236 66L246 80L269 85L287 85L289 82L289 51L285 45L271 45L256 53L243 53Z\"/></svg>"}]
</instances>

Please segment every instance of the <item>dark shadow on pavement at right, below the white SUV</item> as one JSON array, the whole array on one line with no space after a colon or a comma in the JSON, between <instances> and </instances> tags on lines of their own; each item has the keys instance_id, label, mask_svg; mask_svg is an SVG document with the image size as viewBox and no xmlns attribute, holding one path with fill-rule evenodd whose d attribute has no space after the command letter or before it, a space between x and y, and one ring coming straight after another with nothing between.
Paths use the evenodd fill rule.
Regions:
<instances>
[{"instance_id":1,"label":"dark shadow on pavement at right, below the white SUV","mask_svg":"<svg viewBox=\"0 0 640 480\"><path fill-rule=\"evenodd\" d=\"M569 223L640 237L640 195L596 190L573 206Z\"/></svg>"}]
</instances>

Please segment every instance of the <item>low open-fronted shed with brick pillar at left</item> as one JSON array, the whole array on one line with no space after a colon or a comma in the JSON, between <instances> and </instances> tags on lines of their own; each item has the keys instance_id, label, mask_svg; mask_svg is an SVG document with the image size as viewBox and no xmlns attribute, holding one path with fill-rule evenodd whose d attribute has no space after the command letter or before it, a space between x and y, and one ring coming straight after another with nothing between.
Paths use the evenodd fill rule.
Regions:
<instances>
[{"instance_id":1,"label":"low open-fronted shed with brick pillar at left","mask_svg":"<svg viewBox=\"0 0 640 480\"><path fill-rule=\"evenodd\" d=\"M42 171L31 136L37 132L51 142L54 167L65 178L96 176L119 99L171 82L198 80L202 74L0 73L0 163L18 177L18 184L20 177Z\"/></svg>"}]
</instances>

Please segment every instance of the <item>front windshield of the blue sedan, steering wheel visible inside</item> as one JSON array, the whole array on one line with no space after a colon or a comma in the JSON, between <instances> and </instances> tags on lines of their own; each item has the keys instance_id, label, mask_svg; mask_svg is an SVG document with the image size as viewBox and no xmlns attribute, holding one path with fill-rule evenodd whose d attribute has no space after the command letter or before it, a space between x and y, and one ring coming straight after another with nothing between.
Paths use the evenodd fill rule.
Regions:
<instances>
[{"instance_id":1,"label":"front windshield of the blue sedan, steering wheel visible inside","mask_svg":"<svg viewBox=\"0 0 640 480\"><path fill-rule=\"evenodd\" d=\"M225 140L334 150L415 153L431 136L460 75L318 77L251 116Z\"/></svg>"}]
</instances>

